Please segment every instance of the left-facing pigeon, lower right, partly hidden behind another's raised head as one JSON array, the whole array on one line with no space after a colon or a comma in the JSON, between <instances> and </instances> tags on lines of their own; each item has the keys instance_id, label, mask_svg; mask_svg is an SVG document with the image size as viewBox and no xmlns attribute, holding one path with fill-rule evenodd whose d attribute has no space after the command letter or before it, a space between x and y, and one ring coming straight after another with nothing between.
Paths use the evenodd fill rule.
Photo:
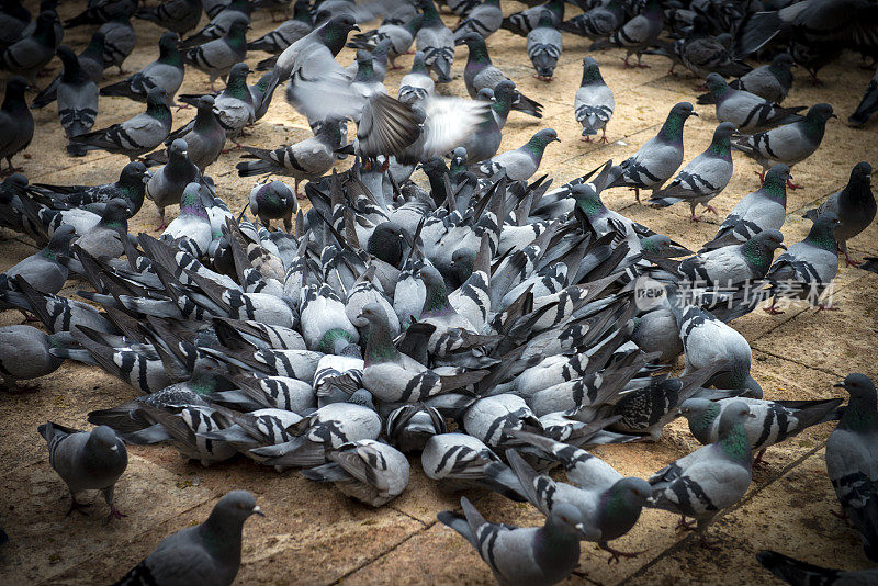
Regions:
<instances>
[{"instance_id":1,"label":"left-facing pigeon, lower right, partly hidden behind another's raised head","mask_svg":"<svg viewBox=\"0 0 878 586\"><path fill-rule=\"evenodd\" d=\"M679 413L689 422L689 431L695 439L707 446L719 439L719 425L725 409L735 402L746 403L754 418L744 421L750 446L758 450L755 463L762 461L765 450L791 438L804 429L837 420L841 417L840 398L817 401L763 401L756 398L689 398L679 406Z\"/></svg>"}]
</instances>

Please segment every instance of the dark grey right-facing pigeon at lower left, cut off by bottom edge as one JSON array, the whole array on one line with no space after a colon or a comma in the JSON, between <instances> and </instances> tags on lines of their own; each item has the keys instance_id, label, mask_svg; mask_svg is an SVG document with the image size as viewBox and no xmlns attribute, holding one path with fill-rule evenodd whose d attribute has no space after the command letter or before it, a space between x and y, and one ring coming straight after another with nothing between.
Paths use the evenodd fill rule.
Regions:
<instances>
[{"instance_id":1,"label":"dark grey right-facing pigeon at lower left, cut off by bottom edge","mask_svg":"<svg viewBox=\"0 0 878 586\"><path fill-rule=\"evenodd\" d=\"M264 517L254 495L232 491L201 525L162 539L117 586L140 584L215 584L232 586L240 568L241 529L250 515Z\"/></svg>"}]
</instances>

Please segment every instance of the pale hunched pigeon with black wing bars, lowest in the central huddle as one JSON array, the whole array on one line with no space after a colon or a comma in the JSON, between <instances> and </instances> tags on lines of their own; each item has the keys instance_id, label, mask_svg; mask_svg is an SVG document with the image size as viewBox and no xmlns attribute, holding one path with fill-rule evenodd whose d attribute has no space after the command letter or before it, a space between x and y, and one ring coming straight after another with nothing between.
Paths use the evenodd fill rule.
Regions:
<instances>
[{"instance_id":1,"label":"pale hunched pigeon with black wing bars, lowest in the central huddle","mask_svg":"<svg viewBox=\"0 0 878 586\"><path fill-rule=\"evenodd\" d=\"M408 486L408 460L386 443L358 440L342 443L327 454L330 463L303 470L312 481L331 482L346 495L381 507Z\"/></svg>"}]
</instances>

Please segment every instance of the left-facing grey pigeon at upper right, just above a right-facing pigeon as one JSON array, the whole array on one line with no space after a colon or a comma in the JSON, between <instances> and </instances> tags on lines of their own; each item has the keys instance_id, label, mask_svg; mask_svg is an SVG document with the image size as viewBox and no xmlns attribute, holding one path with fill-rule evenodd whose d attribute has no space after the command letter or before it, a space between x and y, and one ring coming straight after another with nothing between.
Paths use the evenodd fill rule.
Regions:
<instances>
[{"instance_id":1,"label":"left-facing grey pigeon at upper right, just above a right-facing pigeon","mask_svg":"<svg viewBox=\"0 0 878 586\"><path fill-rule=\"evenodd\" d=\"M740 132L752 133L802 120L797 112L804 106L780 108L755 93L732 88L719 74L709 74L706 83L713 93L717 120L731 122Z\"/></svg>"}]
</instances>

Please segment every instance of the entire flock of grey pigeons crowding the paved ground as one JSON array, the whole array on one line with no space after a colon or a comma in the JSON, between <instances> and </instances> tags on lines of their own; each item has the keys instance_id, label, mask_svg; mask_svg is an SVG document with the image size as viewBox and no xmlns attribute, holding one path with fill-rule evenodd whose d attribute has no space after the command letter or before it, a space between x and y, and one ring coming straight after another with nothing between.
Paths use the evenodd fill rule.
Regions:
<instances>
[{"instance_id":1,"label":"entire flock of grey pigeons crowding the paved ground","mask_svg":"<svg viewBox=\"0 0 878 586\"><path fill-rule=\"evenodd\" d=\"M85 514L87 491L100 492L108 522L138 515L114 495L126 446L171 446L203 466L249 459L370 507L410 489L419 466L464 493L438 521L499 584L555 584L587 576L584 541L608 562L642 553L612 542L644 508L678 516L678 529L719 549L711 523L741 503L766 451L830 424L829 482L878 564L875 384L847 375L835 385L846 402L832 388L820 399L764 396L734 328L790 304L844 314L826 294L840 263L878 272L849 248L876 216L869 161L844 161L849 179L809 206L801 241L781 233L787 191L800 189L792 172L813 162L842 114L787 104L793 68L819 82L845 50L875 67L878 0L89 0L65 21L57 0L30 4L0 2L0 227L37 248L0 274L0 311L25 319L0 327L2 388L7 401L38 393L29 381L67 361L132 387L130 401L88 414L93 428L33 430L67 485L68 515ZM275 26L257 37L257 19ZM162 31L156 58L126 72L147 26ZM66 45L71 29L90 41ZM500 29L521 64L507 71L491 58ZM345 47L352 63L340 63ZM685 69L701 86L662 106L651 138L623 160L595 158L559 184L540 173L544 154L583 145L555 145L541 102L566 101L567 124L599 157L594 142L621 138L614 116L631 114L617 108L627 90L595 59L608 50L618 68L666 57L674 76ZM385 75L408 54L394 93ZM582 64L574 95L552 89L560 61ZM60 72L46 78L52 64ZM202 93L182 93L193 68ZM527 94L514 79L525 69L541 82ZM466 93L449 91L452 80ZM131 101L135 115L95 124L104 104ZM249 129L283 101L309 135L254 146ZM15 164L47 140L38 109L57 109L58 169L117 160L95 150L123 155L117 180L25 177ZM866 136L877 110L878 72L844 114ZM697 156L684 142L691 116L716 119ZM504 150L510 120L531 127ZM230 151L236 174L256 178L249 193L233 196L228 170L214 165ZM751 174L754 190L697 252L601 199L624 188L631 205L686 203L702 222L696 212L718 214L710 202L729 195L741 157L762 167L759 184ZM160 224L130 229L146 200ZM649 446L678 417L702 446L646 478L588 451ZM473 504L485 491L544 522L485 519ZM115 579L232 584L252 515L262 516L254 495L232 491ZM7 529L0 544L15 539ZM775 551L757 560L791 584L878 583L878 568L822 568Z\"/></svg>"}]
</instances>

